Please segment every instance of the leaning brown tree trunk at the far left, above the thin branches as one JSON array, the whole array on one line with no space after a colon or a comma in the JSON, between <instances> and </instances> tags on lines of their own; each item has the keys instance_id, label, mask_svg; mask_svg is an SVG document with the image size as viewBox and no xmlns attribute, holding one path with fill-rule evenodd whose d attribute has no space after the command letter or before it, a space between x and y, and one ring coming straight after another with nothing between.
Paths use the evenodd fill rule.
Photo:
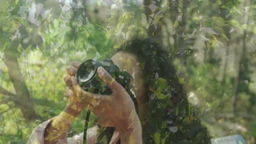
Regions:
<instances>
[{"instance_id":1,"label":"leaning brown tree trunk at the far left, above the thin branches","mask_svg":"<svg viewBox=\"0 0 256 144\"><path fill-rule=\"evenodd\" d=\"M8 68L8 73L11 82L13 83L14 89L17 95L17 101L15 103L20 108L25 121L30 123L37 118L36 112L34 111L33 104L30 99L30 92L28 92L24 77L20 71L18 59L11 52L4 52L4 63Z\"/></svg>"}]
</instances>

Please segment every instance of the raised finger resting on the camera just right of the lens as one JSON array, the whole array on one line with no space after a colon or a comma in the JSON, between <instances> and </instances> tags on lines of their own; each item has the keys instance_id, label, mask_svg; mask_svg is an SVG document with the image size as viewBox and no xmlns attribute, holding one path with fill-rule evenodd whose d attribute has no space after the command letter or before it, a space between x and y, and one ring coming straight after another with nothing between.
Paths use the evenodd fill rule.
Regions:
<instances>
[{"instance_id":1,"label":"raised finger resting on the camera just right of the lens","mask_svg":"<svg viewBox=\"0 0 256 144\"><path fill-rule=\"evenodd\" d=\"M99 67L97 71L100 79L107 84L113 93L123 91L124 87L121 86L110 74L108 74L104 68Z\"/></svg>"}]
</instances>

